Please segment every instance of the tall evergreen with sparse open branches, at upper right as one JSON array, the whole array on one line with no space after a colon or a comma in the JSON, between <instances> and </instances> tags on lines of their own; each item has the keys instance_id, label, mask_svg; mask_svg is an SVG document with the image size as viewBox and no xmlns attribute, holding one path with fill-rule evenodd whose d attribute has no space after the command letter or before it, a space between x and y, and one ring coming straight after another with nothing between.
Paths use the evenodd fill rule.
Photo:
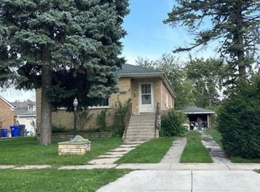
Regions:
<instances>
[{"instance_id":1,"label":"tall evergreen with sparse open branches, at upper right","mask_svg":"<svg viewBox=\"0 0 260 192\"><path fill-rule=\"evenodd\" d=\"M180 24L195 34L194 43L174 52L190 51L218 40L218 52L229 57L229 73L234 82L237 77L246 79L247 67L250 69L258 56L259 9L257 0L176 0L164 23L173 27Z\"/></svg>"}]
</instances>

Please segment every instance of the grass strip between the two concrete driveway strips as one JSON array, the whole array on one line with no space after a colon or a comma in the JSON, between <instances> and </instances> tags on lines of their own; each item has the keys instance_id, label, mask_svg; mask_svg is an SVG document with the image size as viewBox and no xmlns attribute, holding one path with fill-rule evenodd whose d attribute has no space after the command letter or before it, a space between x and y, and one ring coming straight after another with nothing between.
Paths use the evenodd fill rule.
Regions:
<instances>
[{"instance_id":1,"label":"grass strip between the two concrete driveway strips","mask_svg":"<svg viewBox=\"0 0 260 192\"><path fill-rule=\"evenodd\" d=\"M187 144L181 154L181 163L212 163L208 150L201 142L198 131L188 131L186 134Z\"/></svg>"}]
</instances>

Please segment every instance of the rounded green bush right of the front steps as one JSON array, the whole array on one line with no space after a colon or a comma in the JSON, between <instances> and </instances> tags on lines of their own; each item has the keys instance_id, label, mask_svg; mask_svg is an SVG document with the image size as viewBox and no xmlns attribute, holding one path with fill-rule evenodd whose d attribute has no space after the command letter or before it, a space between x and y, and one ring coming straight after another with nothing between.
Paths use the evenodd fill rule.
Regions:
<instances>
[{"instance_id":1,"label":"rounded green bush right of the front steps","mask_svg":"<svg viewBox=\"0 0 260 192\"><path fill-rule=\"evenodd\" d=\"M186 128L183 124L186 121L186 115L178 110L170 109L161 116L160 136L177 136L185 133Z\"/></svg>"}]
</instances>

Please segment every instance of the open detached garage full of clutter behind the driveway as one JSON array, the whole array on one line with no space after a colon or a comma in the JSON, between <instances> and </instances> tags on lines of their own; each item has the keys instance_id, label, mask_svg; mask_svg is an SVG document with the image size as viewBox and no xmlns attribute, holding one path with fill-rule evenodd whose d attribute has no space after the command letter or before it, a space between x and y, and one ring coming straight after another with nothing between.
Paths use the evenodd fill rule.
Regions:
<instances>
[{"instance_id":1,"label":"open detached garage full of clutter behind the driveway","mask_svg":"<svg viewBox=\"0 0 260 192\"><path fill-rule=\"evenodd\" d=\"M199 107L184 107L181 109L189 118L190 129L205 129L211 127L211 114L215 111Z\"/></svg>"}]
</instances>

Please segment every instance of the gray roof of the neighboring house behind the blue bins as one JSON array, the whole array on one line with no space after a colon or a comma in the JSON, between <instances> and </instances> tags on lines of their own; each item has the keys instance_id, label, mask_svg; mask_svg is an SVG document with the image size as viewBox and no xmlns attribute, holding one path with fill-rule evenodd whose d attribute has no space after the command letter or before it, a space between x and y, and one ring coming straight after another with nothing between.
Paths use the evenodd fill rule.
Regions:
<instances>
[{"instance_id":1,"label":"gray roof of the neighboring house behind the blue bins","mask_svg":"<svg viewBox=\"0 0 260 192\"><path fill-rule=\"evenodd\" d=\"M36 115L35 111L28 111L28 105L36 105L35 101L24 101L24 102L12 102L13 106L16 107L15 109L15 116L17 115Z\"/></svg>"}]
</instances>

